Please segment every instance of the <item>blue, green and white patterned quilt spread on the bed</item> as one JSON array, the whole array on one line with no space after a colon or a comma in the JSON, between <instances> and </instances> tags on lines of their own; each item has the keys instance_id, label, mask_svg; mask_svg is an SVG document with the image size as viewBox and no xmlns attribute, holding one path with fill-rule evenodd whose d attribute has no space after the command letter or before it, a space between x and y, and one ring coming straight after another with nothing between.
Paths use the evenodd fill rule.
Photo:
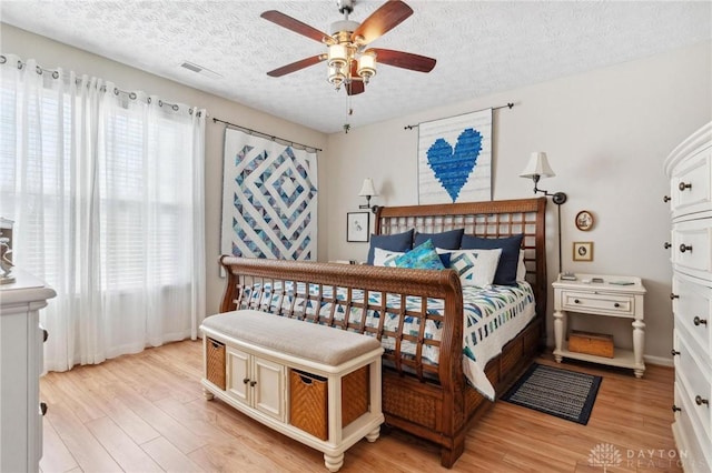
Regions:
<instances>
[{"instance_id":1,"label":"blue, green and white patterned quilt spread on the bed","mask_svg":"<svg viewBox=\"0 0 712 473\"><path fill-rule=\"evenodd\" d=\"M243 306L261 310L265 312L278 313L278 308L288 309L290 306L304 308L306 314L316 318L317 310L320 318L329 318L332 314L332 304L317 301L305 301L299 294L305 293L305 283L297 283L297 296L291 283L287 283L287 290L281 290L281 283L255 285L245 291L241 302ZM312 296L319 295L319 286L309 284L309 294ZM323 286L323 296L330 299L333 296L332 289ZM380 292L368 292L368 303L372 306L382 305ZM337 301L347 300L347 289L337 288ZM353 290L352 301L363 302L364 292ZM406 309L419 311L422 306L422 298L406 298ZM305 306L306 305L306 306ZM317 309L317 305L318 309ZM431 313L443 313L445 302L443 300L431 299L427 306ZM400 308L400 296L398 294L388 294L386 306L388 309ZM490 285L487 288L466 286L463 288L463 306L464 306L464 324L463 324L463 371L469 383L490 400L494 400L494 386L487 380L484 369L490 360L502 353L505 343L516 336L526 324L534 318L535 304L532 286L526 282L520 282L514 286ZM334 319L344 321L346 308L345 304L337 304L334 309ZM350 306L348 310L348 323L355 330L360 328L363 309ZM377 328L380 321L379 310L368 310L365 324L366 326ZM403 333L417 336L419 334L421 319L406 316L404 320ZM425 339L441 340L442 323L435 320L427 320L424 331ZM398 315L396 313L386 313L384 320L384 331L397 332ZM368 334L368 332L366 332ZM395 350L395 339L386 334L382 338L382 345L386 351ZM415 356L416 344L406 340L402 341L400 352L406 355ZM439 349L432 345L423 345L424 362L437 365L439 360Z\"/></svg>"}]
</instances>

